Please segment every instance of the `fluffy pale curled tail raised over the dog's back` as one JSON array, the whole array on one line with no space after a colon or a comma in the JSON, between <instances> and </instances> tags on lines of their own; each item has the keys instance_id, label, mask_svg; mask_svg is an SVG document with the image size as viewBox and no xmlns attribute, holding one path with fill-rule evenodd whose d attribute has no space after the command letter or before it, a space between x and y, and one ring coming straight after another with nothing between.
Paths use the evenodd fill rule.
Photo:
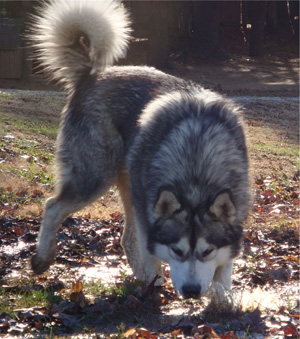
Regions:
<instances>
[{"instance_id":1,"label":"fluffy pale curled tail raised over the dog's back","mask_svg":"<svg viewBox=\"0 0 300 339\"><path fill-rule=\"evenodd\" d=\"M72 90L79 79L124 57L129 17L113 0L52 0L34 16L30 38L42 65Z\"/></svg>"}]
</instances>

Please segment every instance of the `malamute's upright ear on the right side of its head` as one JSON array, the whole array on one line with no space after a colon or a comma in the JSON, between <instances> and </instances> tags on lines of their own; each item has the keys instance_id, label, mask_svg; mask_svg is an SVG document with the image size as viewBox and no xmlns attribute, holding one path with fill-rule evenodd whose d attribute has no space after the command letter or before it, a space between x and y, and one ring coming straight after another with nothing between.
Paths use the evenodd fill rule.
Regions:
<instances>
[{"instance_id":1,"label":"malamute's upright ear on the right side of its head","mask_svg":"<svg viewBox=\"0 0 300 339\"><path fill-rule=\"evenodd\" d=\"M227 192L220 193L209 210L215 218L221 221L232 224L235 220L235 207Z\"/></svg>"}]
</instances>

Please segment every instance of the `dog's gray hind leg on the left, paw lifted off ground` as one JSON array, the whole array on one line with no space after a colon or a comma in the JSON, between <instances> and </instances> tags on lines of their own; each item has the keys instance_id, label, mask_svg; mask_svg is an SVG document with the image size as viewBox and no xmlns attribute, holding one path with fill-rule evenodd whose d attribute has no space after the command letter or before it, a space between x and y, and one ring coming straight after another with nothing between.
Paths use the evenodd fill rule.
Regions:
<instances>
[{"instance_id":1,"label":"dog's gray hind leg on the left, paw lifted off ground","mask_svg":"<svg viewBox=\"0 0 300 339\"><path fill-rule=\"evenodd\" d=\"M37 253L31 261L35 273L43 273L54 261L59 224L104 194L118 176L124 158L122 138L109 123L101 129L96 124L99 119L90 119L81 120L80 128L75 126L74 132L74 122L62 125L56 159L56 195L46 203Z\"/></svg>"}]
</instances>

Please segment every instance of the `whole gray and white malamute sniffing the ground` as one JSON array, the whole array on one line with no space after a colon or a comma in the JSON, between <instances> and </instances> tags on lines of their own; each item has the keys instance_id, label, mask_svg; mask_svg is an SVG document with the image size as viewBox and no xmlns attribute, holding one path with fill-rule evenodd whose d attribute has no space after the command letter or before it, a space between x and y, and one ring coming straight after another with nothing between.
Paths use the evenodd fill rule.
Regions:
<instances>
[{"instance_id":1,"label":"whole gray and white malamute sniffing the ground","mask_svg":"<svg viewBox=\"0 0 300 339\"><path fill-rule=\"evenodd\" d=\"M237 107L153 68L111 66L130 34L117 2L55 0L33 26L40 60L69 94L33 271L53 263L63 219L116 184L126 215L122 246L138 279L162 275L163 260L186 298L211 281L230 288L249 207Z\"/></svg>"}]
</instances>

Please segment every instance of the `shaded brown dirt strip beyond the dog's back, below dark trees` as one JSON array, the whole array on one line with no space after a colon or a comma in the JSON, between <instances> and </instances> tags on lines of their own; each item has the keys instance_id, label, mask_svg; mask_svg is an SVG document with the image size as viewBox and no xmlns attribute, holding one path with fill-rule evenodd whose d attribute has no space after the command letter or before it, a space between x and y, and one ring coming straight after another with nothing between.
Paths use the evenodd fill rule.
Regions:
<instances>
[{"instance_id":1,"label":"shaded brown dirt strip beyond the dog's back, below dark trees","mask_svg":"<svg viewBox=\"0 0 300 339\"><path fill-rule=\"evenodd\" d=\"M239 56L223 62L194 61L180 72L227 95L298 96L299 59Z\"/></svg>"}]
</instances>

